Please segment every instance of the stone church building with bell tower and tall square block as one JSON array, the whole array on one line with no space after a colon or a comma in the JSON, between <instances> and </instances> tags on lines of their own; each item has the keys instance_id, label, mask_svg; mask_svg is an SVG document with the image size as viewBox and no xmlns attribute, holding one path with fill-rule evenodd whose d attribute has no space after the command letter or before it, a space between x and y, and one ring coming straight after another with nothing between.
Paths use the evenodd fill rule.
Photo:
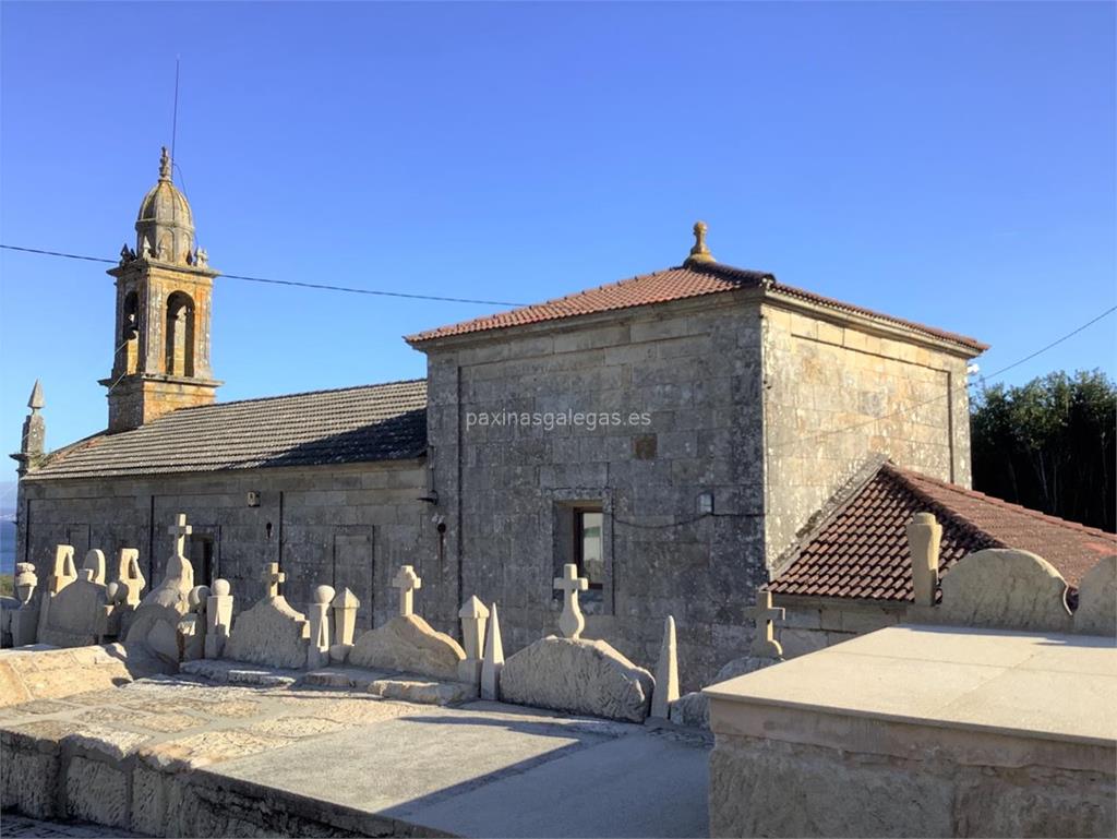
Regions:
<instances>
[{"instance_id":1,"label":"stone church building with bell tower and tall square block","mask_svg":"<svg viewBox=\"0 0 1117 839\"><path fill-rule=\"evenodd\" d=\"M510 652L555 630L552 581L576 562L586 635L647 666L674 614L693 685L881 470L970 493L966 365L985 345L718 263L700 223L678 266L409 336L423 380L225 403L219 274L165 152L135 229L108 271L106 430L45 451L37 388L16 456L18 557L40 572L68 543L137 547L157 578L182 512L199 582L228 579L239 607L274 561L292 603L345 585L367 627L410 563L428 620L455 632L466 598L496 601ZM844 573L896 578L850 598L879 617L904 600L906 547L875 545ZM822 569L786 597L827 597Z\"/></svg>"}]
</instances>

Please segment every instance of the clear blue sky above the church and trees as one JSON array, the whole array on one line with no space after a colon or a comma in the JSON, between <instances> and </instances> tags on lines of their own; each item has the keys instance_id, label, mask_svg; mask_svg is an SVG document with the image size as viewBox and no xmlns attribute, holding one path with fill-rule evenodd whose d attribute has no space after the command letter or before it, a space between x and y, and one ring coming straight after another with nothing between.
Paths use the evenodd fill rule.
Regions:
<instances>
[{"instance_id":1,"label":"clear blue sky above the church and trees","mask_svg":"<svg viewBox=\"0 0 1117 839\"><path fill-rule=\"evenodd\" d=\"M536 301L725 263L980 337L1114 305L1115 6L18 3L0 239L114 257L170 142L211 265ZM0 440L102 429L105 266L0 252ZM217 280L220 398L420 376L487 309ZM1115 318L1013 371L1115 370Z\"/></svg>"}]
</instances>

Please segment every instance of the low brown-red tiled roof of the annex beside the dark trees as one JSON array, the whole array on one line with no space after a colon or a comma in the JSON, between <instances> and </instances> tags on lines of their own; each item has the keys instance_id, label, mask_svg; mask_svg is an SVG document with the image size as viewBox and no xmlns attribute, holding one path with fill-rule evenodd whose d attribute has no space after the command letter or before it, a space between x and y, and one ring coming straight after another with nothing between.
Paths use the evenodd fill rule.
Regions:
<instances>
[{"instance_id":1,"label":"low brown-red tiled roof of the annex beside the dark trees","mask_svg":"<svg viewBox=\"0 0 1117 839\"><path fill-rule=\"evenodd\" d=\"M1117 535L1009 504L885 464L855 487L801 543L770 584L773 594L910 601L906 526L930 512L943 525L939 573L973 551L1016 547L1039 554L1077 587Z\"/></svg>"}]
</instances>

